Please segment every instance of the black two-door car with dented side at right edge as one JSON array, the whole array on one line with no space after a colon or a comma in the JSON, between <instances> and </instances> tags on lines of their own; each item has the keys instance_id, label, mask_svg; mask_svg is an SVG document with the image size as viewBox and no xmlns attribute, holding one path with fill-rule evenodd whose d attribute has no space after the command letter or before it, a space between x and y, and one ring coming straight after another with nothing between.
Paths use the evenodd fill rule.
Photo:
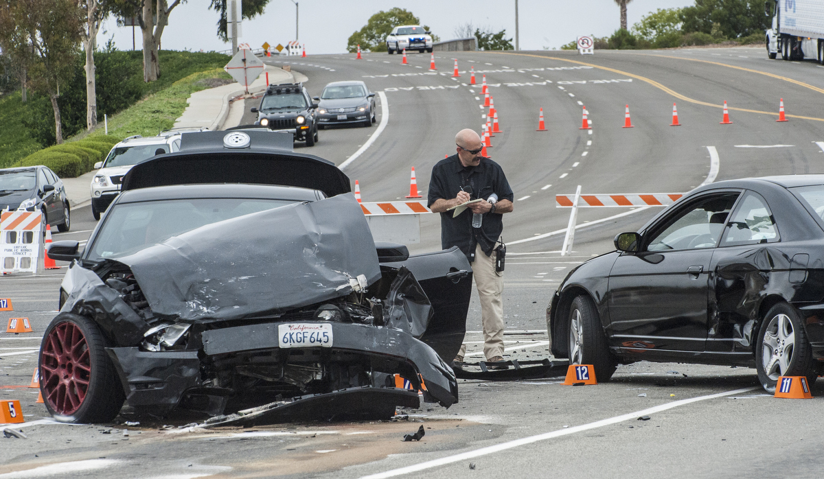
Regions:
<instances>
[{"instance_id":1,"label":"black two-door car with dented side at right edge","mask_svg":"<svg viewBox=\"0 0 824 479\"><path fill-rule=\"evenodd\" d=\"M616 251L569 273L547 309L552 352L599 381L636 360L824 371L824 175L697 188Z\"/></svg>"}]
</instances>

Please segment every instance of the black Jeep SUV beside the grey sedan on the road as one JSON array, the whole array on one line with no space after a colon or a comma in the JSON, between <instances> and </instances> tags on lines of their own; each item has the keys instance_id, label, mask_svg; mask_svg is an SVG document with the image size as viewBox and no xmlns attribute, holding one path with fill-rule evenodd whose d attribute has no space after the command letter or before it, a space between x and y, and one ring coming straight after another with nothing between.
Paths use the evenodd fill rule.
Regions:
<instances>
[{"instance_id":1,"label":"black Jeep SUV beside the grey sedan on the road","mask_svg":"<svg viewBox=\"0 0 824 479\"><path fill-rule=\"evenodd\" d=\"M255 125L275 132L293 134L295 142L315 146L317 142L317 104L309 97L302 83L271 85L266 88L260 106L252 108L258 114Z\"/></svg>"}]
</instances>

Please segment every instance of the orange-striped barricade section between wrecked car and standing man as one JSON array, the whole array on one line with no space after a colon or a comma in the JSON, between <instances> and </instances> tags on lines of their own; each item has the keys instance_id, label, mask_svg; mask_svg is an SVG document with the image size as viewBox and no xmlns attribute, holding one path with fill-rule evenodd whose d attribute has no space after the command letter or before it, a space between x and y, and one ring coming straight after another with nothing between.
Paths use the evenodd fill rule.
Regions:
<instances>
[{"instance_id":1,"label":"orange-striped barricade section between wrecked car and standing man","mask_svg":"<svg viewBox=\"0 0 824 479\"><path fill-rule=\"evenodd\" d=\"M420 243L420 216L432 213L426 202L362 202L372 238L400 244Z\"/></svg>"}]
</instances>

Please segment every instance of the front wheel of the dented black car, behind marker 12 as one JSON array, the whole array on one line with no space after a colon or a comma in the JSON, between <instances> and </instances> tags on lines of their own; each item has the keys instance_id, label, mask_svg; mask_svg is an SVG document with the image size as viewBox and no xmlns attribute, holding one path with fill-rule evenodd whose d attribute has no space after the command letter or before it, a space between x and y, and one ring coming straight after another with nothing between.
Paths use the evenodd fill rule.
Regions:
<instances>
[{"instance_id":1,"label":"front wheel of the dented black car, behind marker 12","mask_svg":"<svg viewBox=\"0 0 824 479\"><path fill-rule=\"evenodd\" d=\"M568 326L569 364L593 365L595 379L608 381L616 372L618 361L610 352L598 310L589 296L580 295L573 300Z\"/></svg>"}]
</instances>

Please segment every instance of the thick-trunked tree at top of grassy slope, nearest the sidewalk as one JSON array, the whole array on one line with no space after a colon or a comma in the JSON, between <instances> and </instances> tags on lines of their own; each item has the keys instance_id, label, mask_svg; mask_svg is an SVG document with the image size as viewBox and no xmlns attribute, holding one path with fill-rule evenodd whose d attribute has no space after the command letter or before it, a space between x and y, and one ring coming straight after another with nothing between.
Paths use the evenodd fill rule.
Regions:
<instances>
[{"instance_id":1,"label":"thick-trunked tree at top of grassy slope, nearest the sidewalk","mask_svg":"<svg viewBox=\"0 0 824 479\"><path fill-rule=\"evenodd\" d=\"M181 2L173 0L169 5L166 0L111 0L112 12L120 18L135 17L143 34L143 81L155 81L160 77L160 63L157 49L163 29L169 25L169 15Z\"/></svg>"}]
</instances>

